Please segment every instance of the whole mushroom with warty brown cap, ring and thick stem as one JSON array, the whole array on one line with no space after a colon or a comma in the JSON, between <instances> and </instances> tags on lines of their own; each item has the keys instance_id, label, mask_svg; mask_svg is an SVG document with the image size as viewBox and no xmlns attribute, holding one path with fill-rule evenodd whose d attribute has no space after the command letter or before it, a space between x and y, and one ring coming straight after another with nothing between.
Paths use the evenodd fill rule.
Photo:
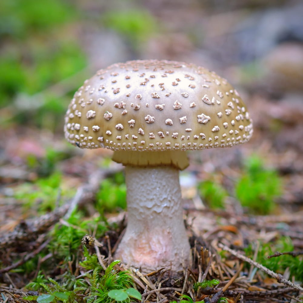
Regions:
<instances>
[{"instance_id":1,"label":"whole mushroom with warty brown cap, ring and thick stem","mask_svg":"<svg viewBox=\"0 0 303 303\"><path fill-rule=\"evenodd\" d=\"M128 223L115 257L142 272L189 264L179 170L186 151L247 142L253 127L238 92L206 68L136 60L99 70L75 93L66 139L108 148L125 165Z\"/></svg>"}]
</instances>

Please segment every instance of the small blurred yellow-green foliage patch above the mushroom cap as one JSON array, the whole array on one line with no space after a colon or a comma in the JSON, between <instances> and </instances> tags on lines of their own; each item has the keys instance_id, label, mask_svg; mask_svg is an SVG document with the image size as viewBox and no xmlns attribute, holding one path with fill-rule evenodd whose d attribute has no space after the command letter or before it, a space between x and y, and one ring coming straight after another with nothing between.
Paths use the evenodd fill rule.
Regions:
<instances>
[{"instance_id":1,"label":"small blurred yellow-green foliage patch above the mushroom cap","mask_svg":"<svg viewBox=\"0 0 303 303\"><path fill-rule=\"evenodd\" d=\"M140 9L107 12L102 16L102 22L105 27L125 37L135 49L157 32L158 28L157 21L150 12Z\"/></svg>"}]
</instances>

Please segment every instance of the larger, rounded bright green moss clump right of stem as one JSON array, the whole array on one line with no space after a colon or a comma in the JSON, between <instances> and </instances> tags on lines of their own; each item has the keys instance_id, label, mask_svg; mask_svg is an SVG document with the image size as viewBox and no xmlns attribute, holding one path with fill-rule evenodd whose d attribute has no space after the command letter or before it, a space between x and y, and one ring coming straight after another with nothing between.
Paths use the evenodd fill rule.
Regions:
<instances>
[{"instance_id":1,"label":"larger, rounded bright green moss clump right of stem","mask_svg":"<svg viewBox=\"0 0 303 303\"><path fill-rule=\"evenodd\" d=\"M275 208L275 198L281 195L281 185L281 178L276 171L265 168L258 156L251 156L245 163L244 174L236 184L235 194L250 212L268 215Z\"/></svg>"}]
</instances>

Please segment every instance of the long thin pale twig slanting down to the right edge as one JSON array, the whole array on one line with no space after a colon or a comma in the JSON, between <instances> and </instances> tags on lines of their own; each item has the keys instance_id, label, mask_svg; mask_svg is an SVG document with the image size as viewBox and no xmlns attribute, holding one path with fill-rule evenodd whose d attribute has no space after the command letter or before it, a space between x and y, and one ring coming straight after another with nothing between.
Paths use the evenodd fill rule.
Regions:
<instances>
[{"instance_id":1,"label":"long thin pale twig slanting down to the right edge","mask_svg":"<svg viewBox=\"0 0 303 303\"><path fill-rule=\"evenodd\" d=\"M294 283L292 283L292 282L289 281L289 280L286 280L285 278L283 278L283 276L282 276L281 274L275 273L274 271L268 269L268 268L265 267L264 265L261 265L261 264L255 262L255 261L251 260L250 258L248 258L248 257L246 257L246 256L244 256L244 255L242 255L242 254L239 253L238 251L235 251L235 250L229 248L228 246L226 246L226 245L224 245L224 244L222 244L222 243L218 243L218 246L219 246L220 248L222 248L223 250L226 250L226 251L230 252L232 255L236 256L237 258L239 258L239 259L241 259L241 260L243 260L243 261L245 261L245 262L248 262L249 264L254 265L255 267L261 269L262 271L266 272L266 273L267 273L268 275L270 275L271 277L277 279L278 282L281 282L281 283L283 283L283 284L285 284L285 285L288 285L288 286L290 286L290 287L292 287L292 288L295 288L295 289L297 289L297 290L303 292L303 288L302 288L301 286L299 286L299 285L297 285L297 284L294 284Z\"/></svg>"}]
</instances>

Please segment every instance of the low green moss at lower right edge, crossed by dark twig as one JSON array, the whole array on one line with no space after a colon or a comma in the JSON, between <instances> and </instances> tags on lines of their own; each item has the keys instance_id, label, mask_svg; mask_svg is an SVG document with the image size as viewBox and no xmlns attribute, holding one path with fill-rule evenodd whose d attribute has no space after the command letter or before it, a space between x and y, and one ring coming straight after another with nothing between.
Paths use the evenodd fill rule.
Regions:
<instances>
[{"instance_id":1,"label":"low green moss at lower right edge, crossed by dark twig","mask_svg":"<svg viewBox=\"0 0 303 303\"><path fill-rule=\"evenodd\" d=\"M245 248L245 255L249 258L254 258L255 246L256 245L250 244L248 248ZM302 256L293 257L291 255L281 255L279 257L267 258L268 256L273 255L276 251L289 252L293 250L294 246L291 238L280 237L270 243L261 243L258 249L257 259L255 261L282 275L285 273L285 270L288 269L291 278L294 277L297 281L303 281Z\"/></svg>"}]
</instances>

